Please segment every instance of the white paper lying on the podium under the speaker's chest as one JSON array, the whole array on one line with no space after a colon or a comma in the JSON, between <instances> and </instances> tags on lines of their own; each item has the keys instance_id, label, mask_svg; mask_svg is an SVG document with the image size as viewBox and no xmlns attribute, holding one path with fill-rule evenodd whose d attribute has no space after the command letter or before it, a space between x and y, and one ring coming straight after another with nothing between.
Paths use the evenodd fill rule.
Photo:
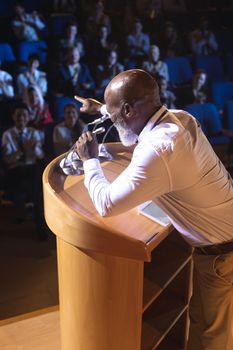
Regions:
<instances>
[{"instance_id":1,"label":"white paper lying on the podium under the speaker's chest","mask_svg":"<svg viewBox=\"0 0 233 350\"><path fill-rule=\"evenodd\" d=\"M138 206L138 212L162 226L167 226L171 223L167 214L152 201L140 204Z\"/></svg>"}]
</instances>

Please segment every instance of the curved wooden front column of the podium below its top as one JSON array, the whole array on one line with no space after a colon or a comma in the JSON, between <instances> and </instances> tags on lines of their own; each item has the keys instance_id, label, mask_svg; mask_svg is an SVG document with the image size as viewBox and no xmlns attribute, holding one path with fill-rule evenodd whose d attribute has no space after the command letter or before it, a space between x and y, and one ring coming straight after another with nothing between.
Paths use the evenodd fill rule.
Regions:
<instances>
[{"instance_id":1,"label":"curved wooden front column of the podium below its top","mask_svg":"<svg viewBox=\"0 0 233 350\"><path fill-rule=\"evenodd\" d=\"M143 262L58 240L64 350L139 350Z\"/></svg>"}]
</instances>

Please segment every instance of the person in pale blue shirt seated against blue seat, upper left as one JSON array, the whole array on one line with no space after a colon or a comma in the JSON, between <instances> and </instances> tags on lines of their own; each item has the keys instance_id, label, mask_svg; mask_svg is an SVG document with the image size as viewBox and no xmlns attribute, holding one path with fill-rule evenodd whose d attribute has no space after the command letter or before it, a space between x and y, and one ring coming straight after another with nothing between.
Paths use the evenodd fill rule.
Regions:
<instances>
[{"instance_id":1,"label":"person in pale blue shirt seated against blue seat, upper left","mask_svg":"<svg viewBox=\"0 0 233 350\"><path fill-rule=\"evenodd\" d=\"M39 57L36 54L30 54L28 57L28 66L25 71L17 77L18 94L22 96L25 88L29 85L36 85L41 90L43 96L46 95L48 84L46 73L39 70Z\"/></svg>"}]
</instances>

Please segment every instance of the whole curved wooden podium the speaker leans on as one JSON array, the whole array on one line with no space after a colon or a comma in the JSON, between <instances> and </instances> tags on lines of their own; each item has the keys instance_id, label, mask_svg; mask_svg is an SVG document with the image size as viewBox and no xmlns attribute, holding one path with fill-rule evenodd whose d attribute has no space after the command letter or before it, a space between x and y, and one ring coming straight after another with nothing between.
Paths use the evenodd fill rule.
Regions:
<instances>
[{"instance_id":1,"label":"whole curved wooden podium the speaker leans on","mask_svg":"<svg viewBox=\"0 0 233 350\"><path fill-rule=\"evenodd\" d=\"M112 181L131 153L108 144ZM170 225L132 209L102 218L83 175L43 175L45 217L57 236L62 350L181 350L187 340L191 248Z\"/></svg>"}]
</instances>

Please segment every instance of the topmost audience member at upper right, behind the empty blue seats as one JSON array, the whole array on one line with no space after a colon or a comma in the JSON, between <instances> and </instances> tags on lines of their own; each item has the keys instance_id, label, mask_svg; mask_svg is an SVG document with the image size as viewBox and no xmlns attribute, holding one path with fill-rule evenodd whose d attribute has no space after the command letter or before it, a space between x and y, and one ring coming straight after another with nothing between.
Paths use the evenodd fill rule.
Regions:
<instances>
[{"instance_id":1,"label":"topmost audience member at upper right, behind the empty blue seats","mask_svg":"<svg viewBox=\"0 0 233 350\"><path fill-rule=\"evenodd\" d=\"M218 50L214 33L209 29L209 21L201 17L198 26L189 34L189 46L193 55L212 55Z\"/></svg>"}]
</instances>

